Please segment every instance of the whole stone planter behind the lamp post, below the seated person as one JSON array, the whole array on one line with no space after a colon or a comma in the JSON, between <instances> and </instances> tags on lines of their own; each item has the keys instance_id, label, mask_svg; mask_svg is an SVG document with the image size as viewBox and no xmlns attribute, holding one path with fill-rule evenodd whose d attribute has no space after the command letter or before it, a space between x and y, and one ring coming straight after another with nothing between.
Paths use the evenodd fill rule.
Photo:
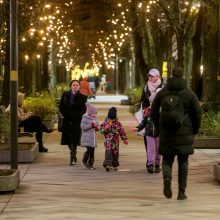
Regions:
<instances>
[{"instance_id":1,"label":"whole stone planter behind the lamp post, below the seated person","mask_svg":"<svg viewBox=\"0 0 220 220\"><path fill-rule=\"evenodd\" d=\"M3 145L3 146L2 146ZM5 145L5 146L4 146ZM11 161L10 150L6 144L0 144L0 163L9 163ZM38 143L18 143L18 162L33 162L38 154Z\"/></svg>"}]
</instances>

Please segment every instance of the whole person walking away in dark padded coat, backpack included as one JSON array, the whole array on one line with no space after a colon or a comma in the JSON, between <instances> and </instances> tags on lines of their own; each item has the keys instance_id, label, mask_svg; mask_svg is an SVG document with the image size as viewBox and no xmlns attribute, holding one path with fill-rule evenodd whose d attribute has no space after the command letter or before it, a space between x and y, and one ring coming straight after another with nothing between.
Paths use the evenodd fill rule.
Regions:
<instances>
[{"instance_id":1,"label":"whole person walking away in dark padded coat, backpack included","mask_svg":"<svg viewBox=\"0 0 220 220\"><path fill-rule=\"evenodd\" d=\"M188 157L194 152L194 135L200 127L201 109L196 94L187 88L182 68L172 71L172 77L156 95L151 107L151 119L159 131L164 196L172 198L172 165L177 156L177 199L187 199Z\"/></svg>"}]
</instances>

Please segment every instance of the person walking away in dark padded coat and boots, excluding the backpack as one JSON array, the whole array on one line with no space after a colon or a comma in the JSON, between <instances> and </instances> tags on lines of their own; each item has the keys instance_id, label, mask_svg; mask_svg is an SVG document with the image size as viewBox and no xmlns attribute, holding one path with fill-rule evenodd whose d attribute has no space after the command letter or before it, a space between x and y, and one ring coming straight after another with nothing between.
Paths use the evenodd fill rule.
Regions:
<instances>
[{"instance_id":1,"label":"person walking away in dark padded coat and boots, excluding the backpack","mask_svg":"<svg viewBox=\"0 0 220 220\"><path fill-rule=\"evenodd\" d=\"M172 165L175 155L178 161L178 196L177 199L186 199L185 188L188 174L188 157L193 154L194 135L198 133L201 121L201 109L196 95L186 86L182 78L183 70L176 68L172 78L167 80L167 85L157 94L151 108L151 118L159 131L159 154L162 155L162 171L164 180L164 195L172 197L171 180ZM177 92L182 101L186 117L179 129L167 129L160 123L162 100L172 92Z\"/></svg>"}]
</instances>

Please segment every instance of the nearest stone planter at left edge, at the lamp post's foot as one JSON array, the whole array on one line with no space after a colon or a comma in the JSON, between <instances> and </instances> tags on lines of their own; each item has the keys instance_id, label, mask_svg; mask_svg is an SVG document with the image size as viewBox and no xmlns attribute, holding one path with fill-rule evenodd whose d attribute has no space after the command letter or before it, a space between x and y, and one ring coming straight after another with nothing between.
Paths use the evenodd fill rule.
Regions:
<instances>
[{"instance_id":1,"label":"nearest stone planter at left edge, at the lamp post's foot","mask_svg":"<svg viewBox=\"0 0 220 220\"><path fill-rule=\"evenodd\" d=\"M0 192L16 190L19 184L19 170L0 170Z\"/></svg>"}]
</instances>

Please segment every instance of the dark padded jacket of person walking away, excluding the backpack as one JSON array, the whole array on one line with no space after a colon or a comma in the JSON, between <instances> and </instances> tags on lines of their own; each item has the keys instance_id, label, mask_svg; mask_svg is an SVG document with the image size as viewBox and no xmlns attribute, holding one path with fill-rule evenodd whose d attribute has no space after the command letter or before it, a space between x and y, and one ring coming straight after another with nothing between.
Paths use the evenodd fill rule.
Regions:
<instances>
[{"instance_id":1,"label":"dark padded jacket of person walking away, excluding the backpack","mask_svg":"<svg viewBox=\"0 0 220 220\"><path fill-rule=\"evenodd\" d=\"M181 127L174 131L163 128L159 123L161 101L170 91L179 92L178 94L182 99L183 107L187 114ZM159 131L159 153L161 155L193 153L194 135L198 133L200 127L201 109L195 93L187 88L184 79L173 77L167 80L167 85L158 92L153 101L151 118Z\"/></svg>"}]
</instances>

